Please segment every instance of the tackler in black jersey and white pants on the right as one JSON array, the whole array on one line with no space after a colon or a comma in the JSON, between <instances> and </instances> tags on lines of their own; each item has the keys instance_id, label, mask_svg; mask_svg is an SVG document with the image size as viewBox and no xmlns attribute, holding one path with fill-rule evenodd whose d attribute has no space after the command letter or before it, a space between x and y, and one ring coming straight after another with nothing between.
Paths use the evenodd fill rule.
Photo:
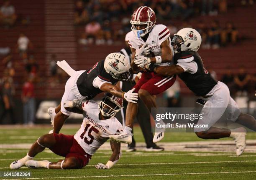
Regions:
<instances>
[{"instance_id":1,"label":"tackler in black jersey and white pants on the right","mask_svg":"<svg viewBox=\"0 0 256 180\"><path fill-rule=\"evenodd\" d=\"M228 86L215 81L208 72L200 55L201 35L192 28L179 30L172 39L174 63L171 66L146 65L146 69L164 76L179 75L187 87L196 96L202 96L206 103L201 111L203 118L197 124L208 124L210 128L195 128L195 133L203 139L233 138L236 142L236 155L240 156L246 147L246 130L236 128L216 128L213 125L224 115L228 120L244 125L256 131L256 120L248 114L241 113L238 105L230 97Z\"/></svg>"}]
</instances>

